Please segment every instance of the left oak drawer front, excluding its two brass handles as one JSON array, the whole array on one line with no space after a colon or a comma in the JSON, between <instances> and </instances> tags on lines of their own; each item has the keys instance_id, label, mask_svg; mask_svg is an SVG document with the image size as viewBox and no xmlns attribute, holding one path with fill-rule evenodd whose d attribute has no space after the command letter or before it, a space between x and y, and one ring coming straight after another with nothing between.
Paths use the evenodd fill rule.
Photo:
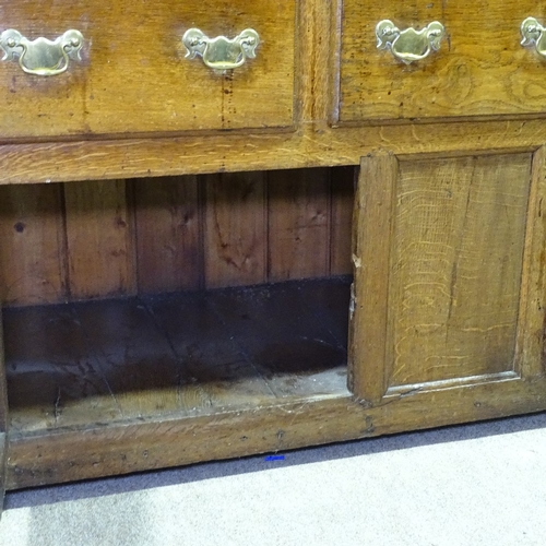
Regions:
<instances>
[{"instance_id":1,"label":"left oak drawer front, excluding its two brass handles","mask_svg":"<svg viewBox=\"0 0 546 546\"><path fill-rule=\"evenodd\" d=\"M81 61L40 76L0 62L0 136L164 133L293 122L296 0L9 2L0 31L55 39L75 28ZM189 28L260 36L256 58L217 73L186 58Z\"/></svg>"}]
</instances>

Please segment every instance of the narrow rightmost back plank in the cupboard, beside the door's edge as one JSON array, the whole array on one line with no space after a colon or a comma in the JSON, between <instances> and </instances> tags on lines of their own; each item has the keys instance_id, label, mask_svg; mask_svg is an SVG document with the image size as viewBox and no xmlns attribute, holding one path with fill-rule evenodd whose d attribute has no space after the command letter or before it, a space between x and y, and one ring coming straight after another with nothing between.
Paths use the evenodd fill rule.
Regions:
<instances>
[{"instance_id":1,"label":"narrow rightmost back plank in the cupboard, beside the door's edge","mask_svg":"<svg viewBox=\"0 0 546 546\"><path fill-rule=\"evenodd\" d=\"M332 199L330 228L330 273L348 275L351 263L351 233L355 200L355 167L332 169Z\"/></svg>"}]
</instances>

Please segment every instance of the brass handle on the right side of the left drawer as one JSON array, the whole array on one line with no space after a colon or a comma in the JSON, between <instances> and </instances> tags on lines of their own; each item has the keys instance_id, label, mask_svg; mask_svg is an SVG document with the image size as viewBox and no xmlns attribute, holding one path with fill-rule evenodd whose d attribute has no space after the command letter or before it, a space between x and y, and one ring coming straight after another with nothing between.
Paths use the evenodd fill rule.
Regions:
<instances>
[{"instance_id":1,"label":"brass handle on the right side of the left drawer","mask_svg":"<svg viewBox=\"0 0 546 546\"><path fill-rule=\"evenodd\" d=\"M233 39L225 36L209 38L199 28L190 28L182 36L182 43L188 50L186 57L193 59L200 55L209 68L222 72L240 67L247 58L253 59L260 36L254 29L247 28Z\"/></svg>"}]
</instances>

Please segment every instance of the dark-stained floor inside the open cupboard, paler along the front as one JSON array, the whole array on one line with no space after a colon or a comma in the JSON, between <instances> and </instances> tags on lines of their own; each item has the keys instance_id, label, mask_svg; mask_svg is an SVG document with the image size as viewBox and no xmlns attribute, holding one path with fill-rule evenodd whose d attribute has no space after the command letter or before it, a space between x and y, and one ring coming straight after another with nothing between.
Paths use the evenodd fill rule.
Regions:
<instances>
[{"instance_id":1,"label":"dark-stained floor inside the open cupboard, paler along the front","mask_svg":"<svg viewBox=\"0 0 546 546\"><path fill-rule=\"evenodd\" d=\"M346 396L349 285L5 309L10 434Z\"/></svg>"}]
</instances>

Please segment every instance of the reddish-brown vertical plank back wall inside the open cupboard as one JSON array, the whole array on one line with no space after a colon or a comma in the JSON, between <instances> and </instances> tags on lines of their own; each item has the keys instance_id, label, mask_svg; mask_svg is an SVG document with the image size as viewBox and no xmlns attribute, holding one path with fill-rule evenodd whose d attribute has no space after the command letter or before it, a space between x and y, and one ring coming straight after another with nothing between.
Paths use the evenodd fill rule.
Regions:
<instances>
[{"instance_id":1,"label":"reddish-brown vertical plank back wall inside the open cupboard","mask_svg":"<svg viewBox=\"0 0 546 546\"><path fill-rule=\"evenodd\" d=\"M325 181L309 185L301 174L278 174L294 182L283 199L299 200L308 212L299 217L293 206L285 210L276 202L274 226L285 223L296 229L296 222L293 235L299 237L306 222L317 224L314 207L319 229L325 232L320 240L300 237L302 260L312 256L307 266L295 261L290 269L277 252L286 276L273 264L275 280L349 273L352 173L352 167L325 169L321 176L330 179L330 188ZM0 188L3 302L191 290L203 288L205 281L209 287L263 283L269 248L277 250L283 245L277 238L285 237L282 230L269 234L266 177L244 173L136 179L127 181L126 190L121 181L98 183L96 190L93 181ZM317 244L322 248L319 260L313 256ZM328 260L330 269L324 266Z\"/></svg>"}]
</instances>

